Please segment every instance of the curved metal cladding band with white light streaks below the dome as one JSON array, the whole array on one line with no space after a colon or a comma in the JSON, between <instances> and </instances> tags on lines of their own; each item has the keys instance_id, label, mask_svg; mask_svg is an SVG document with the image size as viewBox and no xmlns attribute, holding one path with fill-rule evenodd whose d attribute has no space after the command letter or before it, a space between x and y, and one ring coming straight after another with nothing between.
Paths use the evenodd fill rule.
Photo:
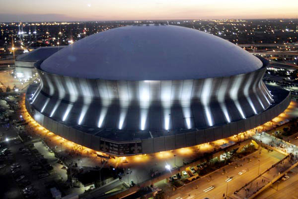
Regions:
<instances>
[{"instance_id":1,"label":"curved metal cladding band with white light streaks below the dome","mask_svg":"<svg viewBox=\"0 0 298 199\"><path fill-rule=\"evenodd\" d=\"M266 68L231 77L172 81L110 81L59 76L42 80L34 107L58 121L121 130L206 128L264 111L272 102L261 81Z\"/></svg>"}]
</instances>

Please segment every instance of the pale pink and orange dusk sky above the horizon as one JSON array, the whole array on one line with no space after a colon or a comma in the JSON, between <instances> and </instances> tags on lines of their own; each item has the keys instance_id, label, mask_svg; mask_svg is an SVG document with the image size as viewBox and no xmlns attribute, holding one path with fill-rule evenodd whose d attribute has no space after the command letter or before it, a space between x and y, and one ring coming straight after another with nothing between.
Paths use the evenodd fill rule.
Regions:
<instances>
[{"instance_id":1,"label":"pale pink and orange dusk sky above the horizon","mask_svg":"<svg viewBox=\"0 0 298 199\"><path fill-rule=\"evenodd\" d=\"M297 18L295 5L298 6L295 0L272 0L270 4L265 0L249 3L235 0L114 0L112 3L95 0L16 0L13 4L3 0L0 2L0 22Z\"/></svg>"}]
</instances>

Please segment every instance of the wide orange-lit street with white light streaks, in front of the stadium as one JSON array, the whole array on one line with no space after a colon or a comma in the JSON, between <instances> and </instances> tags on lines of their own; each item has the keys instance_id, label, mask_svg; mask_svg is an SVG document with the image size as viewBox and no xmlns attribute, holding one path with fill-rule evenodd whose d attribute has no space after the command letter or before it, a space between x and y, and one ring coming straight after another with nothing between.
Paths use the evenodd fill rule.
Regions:
<instances>
[{"instance_id":1,"label":"wide orange-lit street with white light streaks, in front of the stadium","mask_svg":"<svg viewBox=\"0 0 298 199\"><path fill-rule=\"evenodd\" d=\"M251 161L249 161L247 158L250 158ZM211 174L211 178L210 176L205 177L174 192L172 191L172 188L169 188L165 183L157 183L156 185L158 185L159 188L165 190L166 196L168 195L170 199L176 199L178 197L187 199L189 195L192 199L221 199L226 193L226 188L228 189L227 195L231 195L235 190L239 189L245 185L245 183L257 176L259 169L258 160L260 160L260 172L262 172L282 158L284 158L284 155L278 152L268 152L267 150L263 149L261 150L261 155L259 155L259 152L256 151L253 154L247 156L244 160L237 160L237 164L243 164L241 167L235 168L235 164L231 164L224 168L226 172L224 175L223 170L221 169L220 171ZM246 170L246 172L239 176L238 173L242 170ZM228 177L234 178L228 182L227 185L225 180ZM215 188L207 193L203 192L203 190L211 186L214 186Z\"/></svg>"}]
</instances>

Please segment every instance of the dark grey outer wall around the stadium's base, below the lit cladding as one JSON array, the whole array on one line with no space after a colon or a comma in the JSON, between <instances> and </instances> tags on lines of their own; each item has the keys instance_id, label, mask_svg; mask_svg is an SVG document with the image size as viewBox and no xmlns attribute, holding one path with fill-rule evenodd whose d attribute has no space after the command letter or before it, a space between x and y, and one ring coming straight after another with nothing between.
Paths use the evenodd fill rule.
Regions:
<instances>
[{"instance_id":1,"label":"dark grey outer wall around the stadium's base, below the lit cladding","mask_svg":"<svg viewBox=\"0 0 298 199\"><path fill-rule=\"evenodd\" d=\"M239 132L243 132L254 127L257 127L267 121L270 121L274 117L282 113L291 102L291 94L288 93L287 97L274 106L270 106L260 114L253 115L246 119L241 119L235 122L227 123L221 126L211 127L204 130L196 130L187 133L174 134L162 137L153 137L142 140L120 141L105 139L96 135L79 131L70 126L66 126L63 123L57 122L50 117L40 113L38 110L25 101L26 109L29 114L42 126L49 131L67 139L74 143L86 146L96 151L102 151L115 156L123 155L136 155L155 153L166 150L174 150L182 147L188 147L198 144L203 144L218 139L226 138L235 135ZM121 154L113 153L110 149L112 145L127 145L133 148L133 153Z\"/></svg>"}]
</instances>

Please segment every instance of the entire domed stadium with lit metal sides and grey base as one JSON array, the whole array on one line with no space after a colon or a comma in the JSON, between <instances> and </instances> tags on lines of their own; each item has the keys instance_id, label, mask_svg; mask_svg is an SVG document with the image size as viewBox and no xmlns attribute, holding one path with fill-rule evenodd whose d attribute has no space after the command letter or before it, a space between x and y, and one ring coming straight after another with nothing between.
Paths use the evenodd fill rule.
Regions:
<instances>
[{"instance_id":1,"label":"entire domed stadium with lit metal sides and grey base","mask_svg":"<svg viewBox=\"0 0 298 199\"><path fill-rule=\"evenodd\" d=\"M268 62L173 25L114 28L36 62L30 115L55 134L123 156L194 146L270 121L290 93L262 82ZM279 93L279 95L275 95Z\"/></svg>"}]
</instances>

